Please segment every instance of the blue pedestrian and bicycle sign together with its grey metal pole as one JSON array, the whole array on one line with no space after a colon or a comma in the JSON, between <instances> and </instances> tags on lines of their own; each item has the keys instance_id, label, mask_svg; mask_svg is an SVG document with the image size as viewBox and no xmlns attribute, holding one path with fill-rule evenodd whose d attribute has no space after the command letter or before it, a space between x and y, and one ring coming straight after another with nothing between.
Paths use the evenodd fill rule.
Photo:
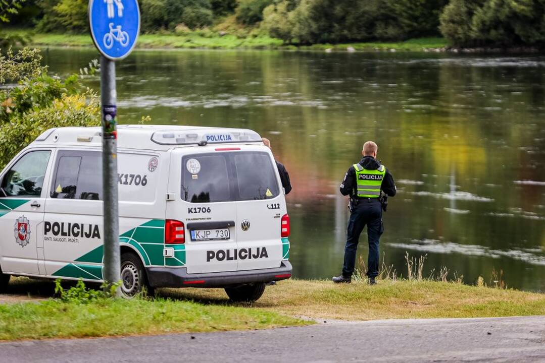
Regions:
<instances>
[{"instance_id":1,"label":"blue pedestrian and bicycle sign together with its grey metal pole","mask_svg":"<svg viewBox=\"0 0 545 363\"><path fill-rule=\"evenodd\" d=\"M137 0L89 0L89 30L100 52L102 106L102 199L104 200L104 269L106 287L120 280L119 203L117 190L116 60L128 56L140 33ZM116 288L116 297L121 289Z\"/></svg>"}]
</instances>

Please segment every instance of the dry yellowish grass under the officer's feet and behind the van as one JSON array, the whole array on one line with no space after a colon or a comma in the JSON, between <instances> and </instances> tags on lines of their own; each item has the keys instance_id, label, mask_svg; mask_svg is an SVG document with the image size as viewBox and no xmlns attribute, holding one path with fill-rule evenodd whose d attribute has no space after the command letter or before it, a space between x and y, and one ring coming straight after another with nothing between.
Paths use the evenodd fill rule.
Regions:
<instances>
[{"instance_id":1,"label":"dry yellowish grass under the officer's feet and behind the van","mask_svg":"<svg viewBox=\"0 0 545 363\"><path fill-rule=\"evenodd\" d=\"M222 290L162 289L160 295L227 304ZM315 319L370 320L545 315L545 294L429 280L383 280L334 285L288 280L269 286L255 309Z\"/></svg>"}]
</instances>

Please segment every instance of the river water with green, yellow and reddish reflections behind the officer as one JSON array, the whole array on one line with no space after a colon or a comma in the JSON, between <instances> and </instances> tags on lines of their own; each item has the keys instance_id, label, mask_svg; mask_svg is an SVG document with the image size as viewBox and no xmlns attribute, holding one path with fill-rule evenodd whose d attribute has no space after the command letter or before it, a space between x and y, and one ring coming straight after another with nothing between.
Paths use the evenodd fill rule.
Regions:
<instances>
[{"instance_id":1,"label":"river water with green, yellow and reddish reflections behind the officer","mask_svg":"<svg viewBox=\"0 0 545 363\"><path fill-rule=\"evenodd\" d=\"M75 72L92 50L50 50ZM375 140L397 179L386 263L427 254L465 282L504 270L545 291L545 57L282 51L135 51L118 63L119 119L253 128L290 173L294 276L341 269L338 184ZM85 82L98 89L98 78ZM367 255L365 233L360 253Z\"/></svg>"}]
</instances>

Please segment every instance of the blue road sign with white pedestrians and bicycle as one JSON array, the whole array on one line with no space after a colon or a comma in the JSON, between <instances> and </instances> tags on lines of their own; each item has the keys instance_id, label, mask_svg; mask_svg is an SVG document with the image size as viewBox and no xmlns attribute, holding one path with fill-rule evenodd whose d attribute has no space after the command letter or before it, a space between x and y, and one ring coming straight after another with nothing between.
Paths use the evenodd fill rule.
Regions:
<instances>
[{"instance_id":1,"label":"blue road sign with white pedestrians and bicycle","mask_svg":"<svg viewBox=\"0 0 545 363\"><path fill-rule=\"evenodd\" d=\"M89 0L89 27L100 53L111 60L125 58L140 33L137 0Z\"/></svg>"}]
</instances>

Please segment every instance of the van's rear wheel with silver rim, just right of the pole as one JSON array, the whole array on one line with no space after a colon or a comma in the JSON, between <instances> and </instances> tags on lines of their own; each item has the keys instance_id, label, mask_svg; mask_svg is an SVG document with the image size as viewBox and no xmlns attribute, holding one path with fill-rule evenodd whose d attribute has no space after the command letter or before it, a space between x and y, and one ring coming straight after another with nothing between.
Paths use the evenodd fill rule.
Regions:
<instances>
[{"instance_id":1,"label":"van's rear wheel with silver rim, just right of the pole","mask_svg":"<svg viewBox=\"0 0 545 363\"><path fill-rule=\"evenodd\" d=\"M148 294L153 289L148 286L146 271L140 258L132 253L121 255L121 294L125 299L132 299L146 286Z\"/></svg>"}]
</instances>

